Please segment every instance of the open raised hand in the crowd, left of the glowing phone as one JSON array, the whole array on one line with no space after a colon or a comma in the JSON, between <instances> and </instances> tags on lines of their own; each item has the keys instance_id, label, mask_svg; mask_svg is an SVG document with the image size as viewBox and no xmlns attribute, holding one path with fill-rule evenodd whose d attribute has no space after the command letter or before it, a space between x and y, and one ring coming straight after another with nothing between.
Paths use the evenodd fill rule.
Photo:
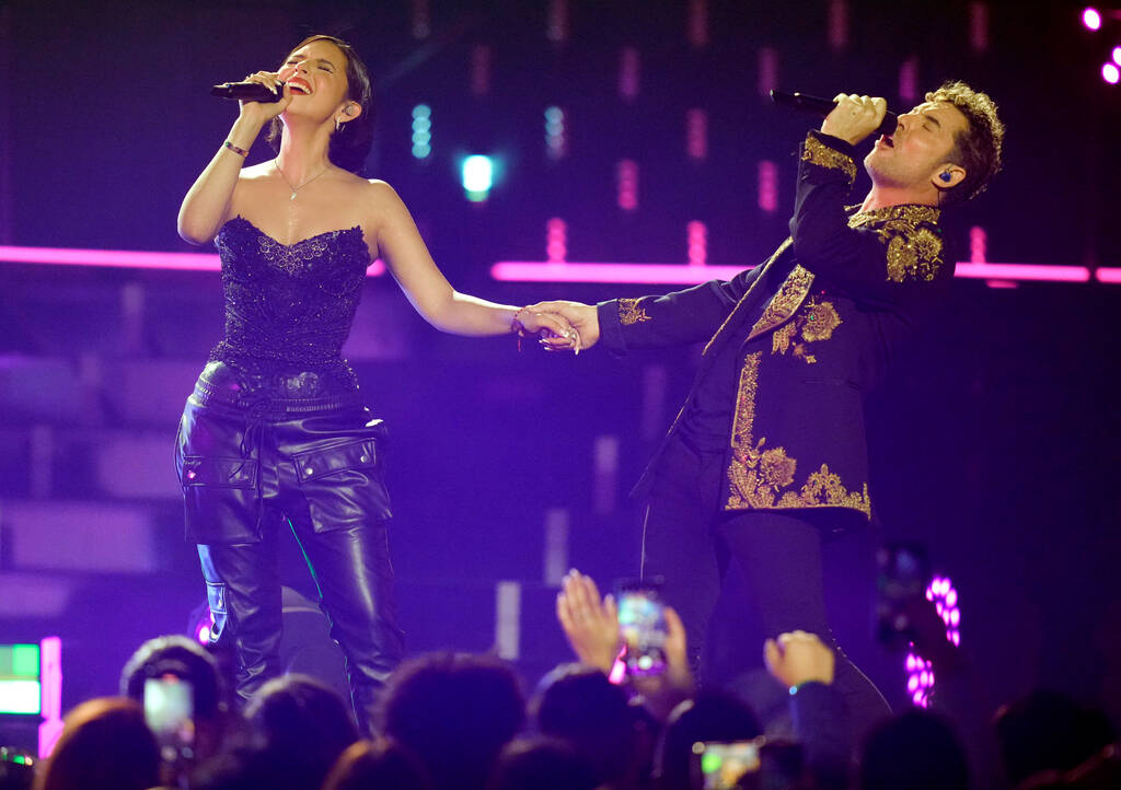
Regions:
<instances>
[{"instance_id":1,"label":"open raised hand in the crowd, left of the glowing phone","mask_svg":"<svg viewBox=\"0 0 1121 790\"><path fill-rule=\"evenodd\" d=\"M610 673L622 647L614 598L609 595L601 600L600 591L590 576L569 570L557 594L557 620L576 657L583 663Z\"/></svg>"}]
</instances>

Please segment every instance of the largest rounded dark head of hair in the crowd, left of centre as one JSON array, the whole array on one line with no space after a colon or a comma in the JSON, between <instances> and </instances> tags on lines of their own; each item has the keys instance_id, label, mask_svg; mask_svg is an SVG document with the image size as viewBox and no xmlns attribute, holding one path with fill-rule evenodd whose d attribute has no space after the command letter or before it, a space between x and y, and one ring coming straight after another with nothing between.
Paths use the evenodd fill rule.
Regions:
<instances>
[{"instance_id":1,"label":"largest rounded dark head of hair in the crowd, left of centre","mask_svg":"<svg viewBox=\"0 0 1121 790\"><path fill-rule=\"evenodd\" d=\"M436 653L404 663L383 699L385 733L411 750L439 790L482 788L525 722L517 676L497 659Z\"/></svg>"}]
</instances>

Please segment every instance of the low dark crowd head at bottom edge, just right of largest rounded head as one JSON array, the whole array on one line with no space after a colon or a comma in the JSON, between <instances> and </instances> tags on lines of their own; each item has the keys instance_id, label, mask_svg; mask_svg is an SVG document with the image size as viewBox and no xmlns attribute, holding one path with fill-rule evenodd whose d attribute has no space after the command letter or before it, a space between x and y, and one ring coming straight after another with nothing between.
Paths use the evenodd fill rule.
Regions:
<instances>
[{"instance_id":1,"label":"low dark crowd head at bottom edge, just right of largest rounded head","mask_svg":"<svg viewBox=\"0 0 1121 790\"><path fill-rule=\"evenodd\" d=\"M499 755L489 790L594 790L601 782L587 758L555 737L511 741Z\"/></svg>"}]
</instances>

